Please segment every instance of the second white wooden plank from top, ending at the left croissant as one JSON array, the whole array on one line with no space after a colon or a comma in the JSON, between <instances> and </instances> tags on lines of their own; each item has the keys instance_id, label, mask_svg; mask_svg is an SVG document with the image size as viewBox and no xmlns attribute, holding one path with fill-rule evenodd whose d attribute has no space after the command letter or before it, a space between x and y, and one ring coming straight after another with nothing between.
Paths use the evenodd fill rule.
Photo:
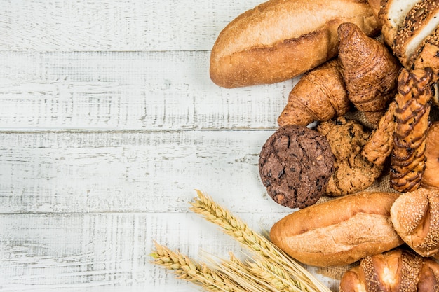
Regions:
<instances>
[{"instance_id":1,"label":"second white wooden plank from top, ending at the left croissant","mask_svg":"<svg viewBox=\"0 0 439 292\"><path fill-rule=\"evenodd\" d=\"M297 80L219 88L210 81L208 58L208 52L0 52L1 129L276 127Z\"/></svg>"}]
</instances>

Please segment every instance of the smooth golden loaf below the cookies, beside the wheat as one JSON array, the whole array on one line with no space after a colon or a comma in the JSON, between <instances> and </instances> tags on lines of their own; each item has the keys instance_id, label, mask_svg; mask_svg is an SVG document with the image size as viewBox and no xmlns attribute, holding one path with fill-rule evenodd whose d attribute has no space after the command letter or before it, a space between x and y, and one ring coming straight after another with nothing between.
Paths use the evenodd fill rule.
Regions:
<instances>
[{"instance_id":1,"label":"smooth golden loaf below the cookies, beside the wheat","mask_svg":"<svg viewBox=\"0 0 439 292\"><path fill-rule=\"evenodd\" d=\"M362 192L300 209L270 230L273 244L306 265L347 265L403 244L390 209L397 193Z\"/></svg>"}]
</instances>

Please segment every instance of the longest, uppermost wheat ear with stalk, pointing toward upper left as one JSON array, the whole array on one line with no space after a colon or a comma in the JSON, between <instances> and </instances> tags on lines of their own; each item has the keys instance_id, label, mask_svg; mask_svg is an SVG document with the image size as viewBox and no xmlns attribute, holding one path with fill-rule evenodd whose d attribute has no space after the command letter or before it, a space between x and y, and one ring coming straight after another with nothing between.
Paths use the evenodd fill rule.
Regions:
<instances>
[{"instance_id":1,"label":"longest, uppermost wheat ear with stalk, pointing toward upper left","mask_svg":"<svg viewBox=\"0 0 439 292\"><path fill-rule=\"evenodd\" d=\"M330 292L302 265L283 253L268 239L248 227L241 219L219 206L208 195L196 190L198 197L191 202L191 211L201 214L206 220L215 223L222 230L234 237L245 248L257 254L263 260L262 265L279 279L288 279L292 291ZM286 273L285 273L286 272ZM296 289L296 290L294 290Z\"/></svg>"}]
</instances>

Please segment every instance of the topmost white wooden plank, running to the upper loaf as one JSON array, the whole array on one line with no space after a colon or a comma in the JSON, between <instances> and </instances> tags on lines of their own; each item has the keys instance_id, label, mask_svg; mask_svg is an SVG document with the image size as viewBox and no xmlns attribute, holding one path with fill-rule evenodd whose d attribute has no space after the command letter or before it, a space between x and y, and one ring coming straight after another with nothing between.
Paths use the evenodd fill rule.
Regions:
<instances>
[{"instance_id":1,"label":"topmost white wooden plank, running to the upper loaf","mask_svg":"<svg viewBox=\"0 0 439 292\"><path fill-rule=\"evenodd\" d=\"M0 50L210 50L260 1L3 1Z\"/></svg>"}]
</instances>

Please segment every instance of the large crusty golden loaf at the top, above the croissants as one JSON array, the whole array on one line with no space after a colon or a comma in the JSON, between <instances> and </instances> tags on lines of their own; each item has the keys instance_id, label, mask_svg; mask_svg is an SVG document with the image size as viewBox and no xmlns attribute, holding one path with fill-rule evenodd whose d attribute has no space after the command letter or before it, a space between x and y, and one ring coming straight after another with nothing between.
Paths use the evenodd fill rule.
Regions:
<instances>
[{"instance_id":1,"label":"large crusty golden loaf at the top, above the croissants","mask_svg":"<svg viewBox=\"0 0 439 292\"><path fill-rule=\"evenodd\" d=\"M365 0L270 0L238 15L220 32L210 78L224 88L268 84L298 76L337 55L337 27L352 22L380 32Z\"/></svg>"}]
</instances>

